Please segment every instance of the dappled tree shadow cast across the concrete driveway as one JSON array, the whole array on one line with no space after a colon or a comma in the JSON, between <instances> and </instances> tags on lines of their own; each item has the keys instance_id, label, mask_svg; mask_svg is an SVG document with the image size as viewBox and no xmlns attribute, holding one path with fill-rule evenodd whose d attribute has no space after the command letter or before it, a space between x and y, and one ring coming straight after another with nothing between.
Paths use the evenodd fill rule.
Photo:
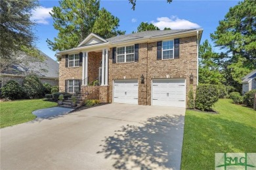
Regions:
<instances>
[{"instance_id":1,"label":"dappled tree shadow cast across the concrete driveway","mask_svg":"<svg viewBox=\"0 0 256 170\"><path fill-rule=\"evenodd\" d=\"M184 116L157 116L125 125L100 145L116 169L180 169Z\"/></svg>"}]
</instances>

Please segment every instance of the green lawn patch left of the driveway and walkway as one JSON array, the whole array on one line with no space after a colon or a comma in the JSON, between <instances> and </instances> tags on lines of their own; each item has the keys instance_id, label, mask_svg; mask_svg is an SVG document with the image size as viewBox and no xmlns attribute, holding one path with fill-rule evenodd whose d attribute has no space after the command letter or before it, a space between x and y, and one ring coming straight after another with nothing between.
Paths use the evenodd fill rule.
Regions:
<instances>
[{"instance_id":1,"label":"green lawn patch left of the driveway and walkway","mask_svg":"<svg viewBox=\"0 0 256 170\"><path fill-rule=\"evenodd\" d=\"M57 106L43 99L0 102L0 127L7 127L35 119L32 111Z\"/></svg>"}]
</instances>

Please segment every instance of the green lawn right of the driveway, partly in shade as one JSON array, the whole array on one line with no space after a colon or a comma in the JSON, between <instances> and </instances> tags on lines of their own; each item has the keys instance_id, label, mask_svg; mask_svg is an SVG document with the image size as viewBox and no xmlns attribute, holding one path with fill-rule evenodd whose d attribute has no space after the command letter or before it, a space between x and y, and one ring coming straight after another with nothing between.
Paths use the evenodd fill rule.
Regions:
<instances>
[{"instance_id":1,"label":"green lawn right of the driveway, partly in shade","mask_svg":"<svg viewBox=\"0 0 256 170\"><path fill-rule=\"evenodd\" d=\"M186 110L182 169L215 169L215 153L256 152L256 112L221 99L206 114Z\"/></svg>"}]
</instances>

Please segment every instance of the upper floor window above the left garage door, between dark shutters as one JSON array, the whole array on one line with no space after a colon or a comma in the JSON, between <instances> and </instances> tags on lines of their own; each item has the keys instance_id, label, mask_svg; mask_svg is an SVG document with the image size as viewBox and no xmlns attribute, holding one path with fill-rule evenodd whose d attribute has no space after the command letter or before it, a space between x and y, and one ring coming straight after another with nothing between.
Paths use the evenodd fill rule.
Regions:
<instances>
[{"instance_id":1,"label":"upper floor window above the left garage door, between dark shutters","mask_svg":"<svg viewBox=\"0 0 256 170\"><path fill-rule=\"evenodd\" d=\"M117 63L134 62L134 45L117 48Z\"/></svg>"}]
</instances>

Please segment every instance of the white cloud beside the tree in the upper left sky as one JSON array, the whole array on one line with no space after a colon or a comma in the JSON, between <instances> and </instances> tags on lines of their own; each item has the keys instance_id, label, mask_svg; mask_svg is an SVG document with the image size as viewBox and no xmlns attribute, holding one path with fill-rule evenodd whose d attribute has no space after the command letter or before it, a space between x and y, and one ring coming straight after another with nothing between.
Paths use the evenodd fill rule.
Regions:
<instances>
[{"instance_id":1,"label":"white cloud beside the tree in the upper left sky","mask_svg":"<svg viewBox=\"0 0 256 170\"><path fill-rule=\"evenodd\" d=\"M37 9L32 11L33 16L31 20L34 20L38 24L49 24L48 19L51 18L51 12L53 8L37 7Z\"/></svg>"}]
</instances>

